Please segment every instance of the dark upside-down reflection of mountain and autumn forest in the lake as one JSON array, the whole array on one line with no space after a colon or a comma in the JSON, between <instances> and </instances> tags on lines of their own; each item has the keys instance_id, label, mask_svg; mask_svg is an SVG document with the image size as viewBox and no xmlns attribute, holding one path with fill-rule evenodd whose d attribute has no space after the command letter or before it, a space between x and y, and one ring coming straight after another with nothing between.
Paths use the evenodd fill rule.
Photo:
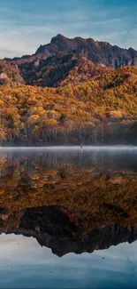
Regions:
<instances>
[{"instance_id":1,"label":"dark upside-down reflection of mountain and autumn forest in the lake","mask_svg":"<svg viewBox=\"0 0 137 289\"><path fill-rule=\"evenodd\" d=\"M137 239L137 151L0 151L0 232L57 256Z\"/></svg>"}]
</instances>

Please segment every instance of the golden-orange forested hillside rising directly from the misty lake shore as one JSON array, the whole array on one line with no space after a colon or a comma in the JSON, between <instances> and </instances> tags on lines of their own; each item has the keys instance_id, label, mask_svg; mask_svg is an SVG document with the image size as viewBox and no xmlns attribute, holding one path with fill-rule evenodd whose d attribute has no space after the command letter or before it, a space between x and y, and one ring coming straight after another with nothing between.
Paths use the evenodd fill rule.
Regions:
<instances>
[{"instance_id":1,"label":"golden-orange forested hillside rising directly from the misty lake shore","mask_svg":"<svg viewBox=\"0 0 137 289\"><path fill-rule=\"evenodd\" d=\"M3 145L136 143L137 68L57 88L2 85L0 107Z\"/></svg>"}]
</instances>

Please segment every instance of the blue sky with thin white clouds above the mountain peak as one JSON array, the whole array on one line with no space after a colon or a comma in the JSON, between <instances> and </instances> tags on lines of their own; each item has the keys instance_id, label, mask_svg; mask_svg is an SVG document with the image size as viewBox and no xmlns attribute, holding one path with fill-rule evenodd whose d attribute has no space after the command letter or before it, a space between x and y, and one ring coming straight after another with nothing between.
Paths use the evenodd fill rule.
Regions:
<instances>
[{"instance_id":1,"label":"blue sky with thin white clouds above the mountain peak","mask_svg":"<svg viewBox=\"0 0 137 289\"><path fill-rule=\"evenodd\" d=\"M57 34L137 50L137 0L0 0L0 58L34 53Z\"/></svg>"}]
</instances>

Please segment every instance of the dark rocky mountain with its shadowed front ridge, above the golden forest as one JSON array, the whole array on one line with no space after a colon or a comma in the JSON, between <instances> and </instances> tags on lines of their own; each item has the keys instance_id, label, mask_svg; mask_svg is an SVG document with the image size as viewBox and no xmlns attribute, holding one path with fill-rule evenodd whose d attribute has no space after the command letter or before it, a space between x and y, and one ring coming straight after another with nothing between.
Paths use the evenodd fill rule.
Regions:
<instances>
[{"instance_id":1,"label":"dark rocky mountain with its shadowed front ridge, above the golden forest","mask_svg":"<svg viewBox=\"0 0 137 289\"><path fill-rule=\"evenodd\" d=\"M59 34L33 55L4 61L19 68L25 84L56 87L83 82L106 69L137 66L137 52L92 38L70 39Z\"/></svg>"}]
</instances>

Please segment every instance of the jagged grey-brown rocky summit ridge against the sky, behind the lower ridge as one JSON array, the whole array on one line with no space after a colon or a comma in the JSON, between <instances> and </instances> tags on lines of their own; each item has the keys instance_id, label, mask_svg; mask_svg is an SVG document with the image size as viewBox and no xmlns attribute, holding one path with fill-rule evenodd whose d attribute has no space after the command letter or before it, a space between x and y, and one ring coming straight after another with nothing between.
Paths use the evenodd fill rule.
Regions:
<instances>
[{"instance_id":1,"label":"jagged grey-brown rocky summit ridge against the sky, behind the lower ridge","mask_svg":"<svg viewBox=\"0 0 137 289\"><path fill-rule=\"evenodd\" d=\"M132 48L123 49L107 42L95 41L92 38L73 39L57 35L51 39L50 44L41 45L35 55L44 54L46 57L57 52L77 52L94 63L110 68L120 68L126 65L137 66L137 52Z\"/></svg>"}]
</instances>

